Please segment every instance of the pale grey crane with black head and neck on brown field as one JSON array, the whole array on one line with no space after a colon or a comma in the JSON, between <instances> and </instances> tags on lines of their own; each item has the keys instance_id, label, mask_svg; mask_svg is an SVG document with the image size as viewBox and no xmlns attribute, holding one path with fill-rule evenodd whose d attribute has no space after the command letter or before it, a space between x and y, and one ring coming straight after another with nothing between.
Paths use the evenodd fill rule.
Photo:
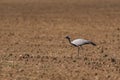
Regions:
<instances>
[{"instance_id":1,"label":"pale grey crane with black head and neck on brown field","mask_svg":"<svg viewBox=\"0 0 120 80\"><path fill-rule=\"evenodd\" d=\"M93 43L92 41L90 40L86 40L86 39L75 39L73 41L71 41L71 38L69 36L66 36L65 37L66 39L68 39L69 43L75 47L78 47L78 56L79 56L79 49L83 49L82 46L83 45L86 45L86 44L91 44L93 46L96 46L95 43Z\"/></svg>"}]
</instances>

